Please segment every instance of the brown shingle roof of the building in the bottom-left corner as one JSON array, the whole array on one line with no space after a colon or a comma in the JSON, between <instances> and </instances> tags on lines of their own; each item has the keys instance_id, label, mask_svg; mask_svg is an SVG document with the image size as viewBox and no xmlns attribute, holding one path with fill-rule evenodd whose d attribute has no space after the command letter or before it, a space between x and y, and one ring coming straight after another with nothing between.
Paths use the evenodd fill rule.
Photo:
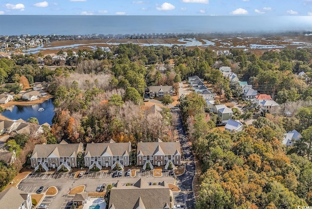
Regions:
<instances>
[{"instance_id":1,"label":"brown shingle roof of the building in the bottom-left corner","mask_svg":"<svg viewBox=\"0 0 312 209\"><path fill-rule=\"evenodd\" d=\"M0 208L2 209L18 209L26 200L27 193L11 187L0 193Z\"/></svg>"}]
</instances>

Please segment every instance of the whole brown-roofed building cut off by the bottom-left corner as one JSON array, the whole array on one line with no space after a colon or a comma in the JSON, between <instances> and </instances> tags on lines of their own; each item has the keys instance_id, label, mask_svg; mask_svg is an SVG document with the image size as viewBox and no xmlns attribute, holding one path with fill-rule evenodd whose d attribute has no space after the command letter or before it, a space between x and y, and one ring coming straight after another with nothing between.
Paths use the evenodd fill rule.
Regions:
<instances>
[{"instance_id":1,"label":"whole brown-roofed building cut off by the bottom-left corner","mask_svg":"<svg viewBox=\"0 0 312 209\"><path fill-rule=\"evenodd\" d=\"M1 209L31 209L32 207L31 194L16 187L10 187L0 193Z\"/></svg>"}]
</instances>

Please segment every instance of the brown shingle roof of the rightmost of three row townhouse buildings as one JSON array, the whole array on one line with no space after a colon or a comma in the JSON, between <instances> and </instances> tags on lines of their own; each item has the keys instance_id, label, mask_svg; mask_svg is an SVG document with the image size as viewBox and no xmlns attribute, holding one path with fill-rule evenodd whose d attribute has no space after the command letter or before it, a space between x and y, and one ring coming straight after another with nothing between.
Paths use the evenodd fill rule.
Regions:
<instances>
[{"instance_id":1,"label":"brown shingle roof of the rightmost of three row townhouse buildings","mask_svg":"<svg viewBox=\"0 0 312 209\"><path fill-rule=\"evenodd\" d=\"M144 155L154 155L155 153L164 153L164 155L174 155L176 150L180 153L179 142L139 142L137 143L137 153L140 151Z\"/></svg>"}]
</instances>

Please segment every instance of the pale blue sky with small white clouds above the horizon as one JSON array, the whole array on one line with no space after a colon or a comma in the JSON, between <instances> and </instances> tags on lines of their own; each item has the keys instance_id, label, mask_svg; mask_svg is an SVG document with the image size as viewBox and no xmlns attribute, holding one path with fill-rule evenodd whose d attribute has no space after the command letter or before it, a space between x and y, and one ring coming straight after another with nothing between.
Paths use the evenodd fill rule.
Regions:
<instances>
[{"instance_id":1,"label":"pale blue sky with small white clouds above the horizon","mask_svg":"<svg viewBox=\"0 0 312 209\"><path fill-rule=\"evenodd\" d=\"M312 0L0 0L0 15L312 16Z\"/></svg>"}]
</instances>

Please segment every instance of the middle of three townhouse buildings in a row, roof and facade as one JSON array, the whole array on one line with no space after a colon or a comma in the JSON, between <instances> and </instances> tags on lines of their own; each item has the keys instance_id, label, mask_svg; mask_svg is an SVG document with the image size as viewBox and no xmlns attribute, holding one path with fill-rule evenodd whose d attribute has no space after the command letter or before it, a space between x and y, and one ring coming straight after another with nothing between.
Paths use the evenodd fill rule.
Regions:
<instances>
[{"instance_id":1,"label":"middle of three townhouse buildings in a row, roof and facade","mask_svg":"<svg viewBox=\"0 0 312 209\"><path fill-rule=\"evenodd\" d=\"M102 167L114 169L117 164L120 168L130 164L131 142L116 143L113 139L105 143L87 144L84 155L84 166L93 169Z\"/></svg>"}]
</instances>

